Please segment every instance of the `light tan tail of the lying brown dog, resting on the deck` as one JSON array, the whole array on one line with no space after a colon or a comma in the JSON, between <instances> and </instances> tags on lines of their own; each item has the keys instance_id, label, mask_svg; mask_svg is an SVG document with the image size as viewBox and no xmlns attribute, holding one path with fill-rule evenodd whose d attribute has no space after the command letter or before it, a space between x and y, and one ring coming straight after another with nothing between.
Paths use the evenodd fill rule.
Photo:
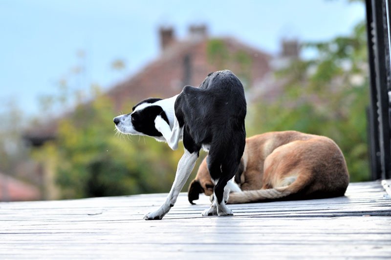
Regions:
<instances>
[{"instance_id":1,"label":"light tan tail of the lying brown dog, resting on the deck","mask_svg":"<svg viewBox=\"0 0 391 260\"><path fill-rule=\"evenodd\" d=\"M287 197L292 194L289 186L272 189L250 190L242 192L233 192L229 195L229 204L249 203L260 200L275 200Z\"/></svg>"}]
</instances>

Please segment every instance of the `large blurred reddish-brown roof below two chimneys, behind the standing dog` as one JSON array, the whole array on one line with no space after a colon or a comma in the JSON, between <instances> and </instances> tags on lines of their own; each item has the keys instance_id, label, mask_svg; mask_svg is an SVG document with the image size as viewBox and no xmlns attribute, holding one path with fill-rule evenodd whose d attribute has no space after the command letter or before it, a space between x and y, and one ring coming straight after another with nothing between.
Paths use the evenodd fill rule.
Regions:
<instances>
[{"instance_id":1,"label":"large blurred reddish-brown roof below two chimneys, behind the standing dog","mask_svg":"<svg viewBox=\"0 0 391 260\"><path fill-rule=\"evenodd\" d=\"M117 84L107 93L115 102L116 110L123 109L127 101L139 101L149 97L168 98L178 94L184 85L198 86L210 72L229 69L238 74L238 63L228 60L224 67L218 68L210 62L207 54L209 38L183 40L167 47L160 57L140 70L128 80ZM216 39L215 39L216 40ZM270 72L271 56L232 38L219 38L224 42L228 54L244 52L251 59L250 82L253 85ZM189 59L190 82L185 82L185 59ZM188 73L189 73L188 72ZM239 75L238 75L239 76ZM126 105L125 108L129 108Z\"/></svg>"}]
</instances>

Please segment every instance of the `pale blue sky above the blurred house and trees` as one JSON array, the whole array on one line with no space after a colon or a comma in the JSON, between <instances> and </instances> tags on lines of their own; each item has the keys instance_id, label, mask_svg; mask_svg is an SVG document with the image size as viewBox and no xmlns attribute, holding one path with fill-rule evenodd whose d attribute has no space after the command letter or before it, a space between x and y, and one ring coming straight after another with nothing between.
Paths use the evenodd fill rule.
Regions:
<instances>
[{"instance_id":1,"label":"pale blue sky above the blurred house and trees","mask_svg":"<svg viewBox=\"0 0 391 260\"><path fill-rule=\"evenodd\" d=\"M57 95L60 80L70 92L109 89L159 56L160 26L180 39L207 24L212 37L276 55L282 38L328 40L364 19L364 5L348 0L0 0L0 112L13 103L39 117L40 97ZM111 67L118 59L122 71Z\"/></svg>"}]
</instances>

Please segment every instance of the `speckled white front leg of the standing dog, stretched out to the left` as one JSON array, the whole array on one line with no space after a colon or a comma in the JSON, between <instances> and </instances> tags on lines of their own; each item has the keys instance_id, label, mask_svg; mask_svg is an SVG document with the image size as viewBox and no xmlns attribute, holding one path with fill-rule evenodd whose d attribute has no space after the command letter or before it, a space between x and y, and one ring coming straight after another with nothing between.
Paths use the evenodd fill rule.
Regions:
<instances>
[{"instance_id":1,"label":"speckled white front leg of the standing dog, stretched out to the left","mask_svg":"<svg viewBox=\"0 0 391 260\"><path fill-rule=\"evenodd\" d=\"M175 180L166 201L163 203L163 205L160 206L158 210L145 215L145 220L161 220L164 215L170 211L170 209L174 206L176 199L178 198L179 192L185 185L186 180L189 179L197 158L198 152L190 153L185 149L185 153L178 162Z\"/></svg>"}]
</instances>

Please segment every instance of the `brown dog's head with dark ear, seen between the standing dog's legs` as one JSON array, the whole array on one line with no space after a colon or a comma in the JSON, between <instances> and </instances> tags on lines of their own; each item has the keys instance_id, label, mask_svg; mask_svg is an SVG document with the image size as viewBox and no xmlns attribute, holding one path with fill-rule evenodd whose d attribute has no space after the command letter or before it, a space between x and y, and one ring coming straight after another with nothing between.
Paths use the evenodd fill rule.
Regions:
<instances>
[{"instance_id":1,"label":"brown dog's head with dark ear, seen between the standing dog's legs","mask_svg":"<svg viewBox=\"0 0 391 260\"><path fill-rule=\"evenodd\" d=\"M188 199L189 202L195 204L193 200L198 200L200 193L205 193L205 195L210 196L213 194L213 188L215 185L212 182L212 178L208 171L208 165L206 163L206 158L199 165L197 176L190 183L188 190Z\"/></svg>"}]
</instances>

